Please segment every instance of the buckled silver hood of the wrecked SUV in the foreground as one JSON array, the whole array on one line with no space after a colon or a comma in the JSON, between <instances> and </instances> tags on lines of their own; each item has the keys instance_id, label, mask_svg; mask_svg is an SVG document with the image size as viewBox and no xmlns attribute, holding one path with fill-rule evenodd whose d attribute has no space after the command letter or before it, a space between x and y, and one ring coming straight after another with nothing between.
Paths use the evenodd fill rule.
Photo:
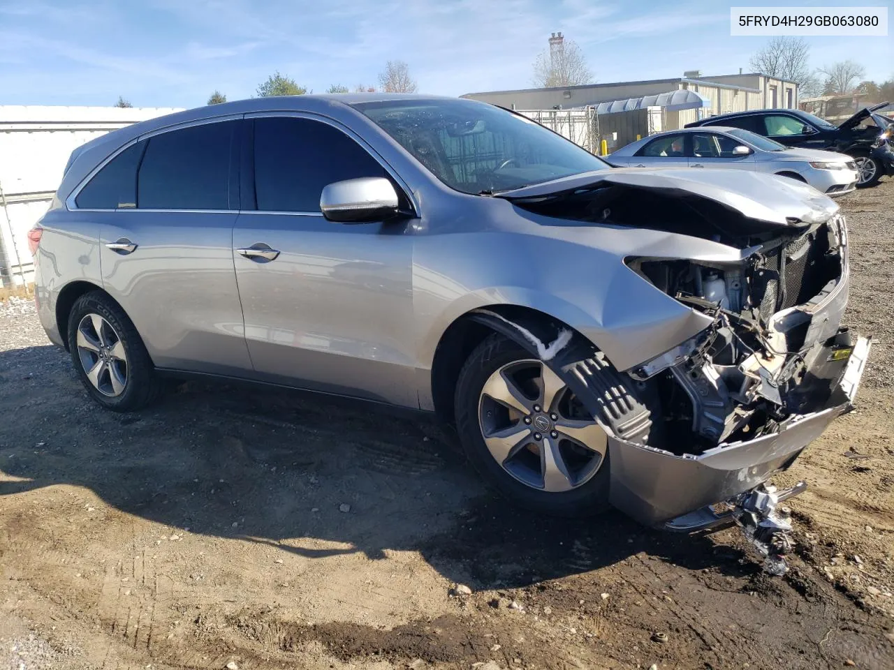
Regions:
<instances>
[{"instance_id":1,"label":"buckled silver hood of the wrecked SUV in the foreground","mask_svg":"<svg viewBox=\"0 0 894 670\"><path fill-rule=\"evenodd\" d=\"M828 152L823 152L828 156ZM828 157L827 157L828 160ZM790 228L823 222L839 206L830 197L795 180L742 170L692 170L690 168L617 168L572 175L561 180L517 188L496 194L511 201L528 202L571 194L580 190L619 185L634 190L661 191L664 195L692 201L706 199L732 210L763 230ZM769 224L769 225L766 225Z\"/></svg>"}]
</instances>

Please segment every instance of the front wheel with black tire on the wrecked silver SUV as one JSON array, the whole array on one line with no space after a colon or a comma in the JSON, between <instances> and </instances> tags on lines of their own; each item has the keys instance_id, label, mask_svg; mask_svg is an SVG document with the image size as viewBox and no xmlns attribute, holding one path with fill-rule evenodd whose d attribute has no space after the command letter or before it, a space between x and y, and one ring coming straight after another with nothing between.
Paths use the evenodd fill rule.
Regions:
<instances>
[{"instance_id":1,"label":"front wheel with black tire on the wrecked silver SUV","mask_svg":"<svg viewBox=\"0 0 894 670\"><path fill-rule=\"evenodd\" d=\"M503 496L536 512L608 507L608 437L543 361L494 334L468 357L456 389L463 449Z\"/></svg>"}]
</instances>

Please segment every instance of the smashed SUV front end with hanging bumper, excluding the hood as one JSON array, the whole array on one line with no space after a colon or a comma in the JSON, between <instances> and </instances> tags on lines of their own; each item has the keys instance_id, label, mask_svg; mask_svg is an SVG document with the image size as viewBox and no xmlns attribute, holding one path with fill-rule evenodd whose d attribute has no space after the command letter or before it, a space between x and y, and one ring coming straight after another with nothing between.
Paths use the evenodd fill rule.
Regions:
<instances>
[{"instance_id":1,"label":"smashed SUV front end with hanging bumper, excluding the hood","mask_svg":"<svg viewBox=\"0 0 894 670\"><path fill-rule=\"evenodd\" d=\"M870 348L839 327L844 217L774 235L743 249L739 263L630 258L628 266L712 324L628 371L660 420L648 440L615 440L613 501L671 530L737 521L768 569L784 571L790 526L763 482L852 406ZM725 514L705 508L721 502Z\"/></svg>"}]
</instances>

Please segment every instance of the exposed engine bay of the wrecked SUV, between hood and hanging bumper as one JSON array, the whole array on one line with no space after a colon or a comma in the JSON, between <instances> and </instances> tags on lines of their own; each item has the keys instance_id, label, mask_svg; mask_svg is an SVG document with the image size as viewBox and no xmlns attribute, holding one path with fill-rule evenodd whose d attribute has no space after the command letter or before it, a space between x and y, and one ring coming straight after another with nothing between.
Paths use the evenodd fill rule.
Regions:
<instances>
[{"instance_id":1,"label":"exposed engine bay of the wrecked SUV, between hood and hanging bumper","mask_svg":"<svg viewBox=\"0 0 894 670\"><path fill-rule=\"evenodd\" d=\"M713 319L628 372L661 417L650 446L697 455L778 431L829 400L852 341L815 328L813 313L846 272L845 230L834 217L755 245L737 264L628 259L655 288Z\"/></svg>"}]
</instances>

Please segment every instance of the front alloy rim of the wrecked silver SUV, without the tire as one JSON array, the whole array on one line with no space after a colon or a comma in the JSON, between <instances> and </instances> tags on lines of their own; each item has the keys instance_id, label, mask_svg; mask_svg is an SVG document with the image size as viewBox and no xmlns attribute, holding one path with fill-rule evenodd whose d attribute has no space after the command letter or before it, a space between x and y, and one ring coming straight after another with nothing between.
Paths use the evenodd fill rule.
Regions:
<instances>
[{"instance_id":1,"label":"front alloy rim of the wrecked silver SUV, without the tire","mask_svg":"<svg viewBox=\"0 0 894 670\"><path fill-rule=\"evenodd\" d=\"M551 493L577 489L603 464L605 431L556 373L536 359L496 370L478 400L485 445L502 469Z\"/></svg>"}]
</instances>

